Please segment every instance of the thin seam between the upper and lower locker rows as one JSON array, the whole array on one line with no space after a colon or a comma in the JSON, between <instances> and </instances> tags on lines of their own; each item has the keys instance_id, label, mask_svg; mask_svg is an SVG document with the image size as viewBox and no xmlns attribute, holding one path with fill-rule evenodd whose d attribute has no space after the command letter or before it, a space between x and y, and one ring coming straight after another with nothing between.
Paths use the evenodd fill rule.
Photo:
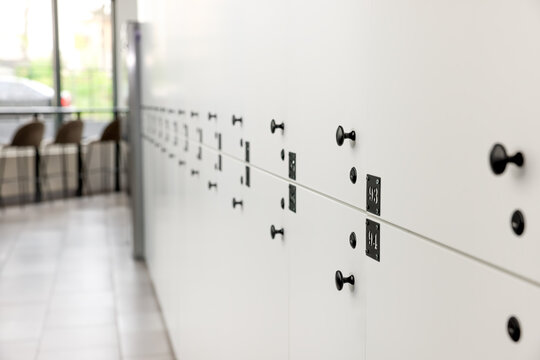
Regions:
<instances>
[{"instance_id":1,"label":"thin seam between the upper and lower locker rows","mask_svg":"<svg viewBox=\"0 0 540 360\"><path fill-rule=\"evenodd\" d=\"M193 141L190 140L189 138L185 138L185 137L184 137L184 139L186 139L187 141L193 143ZM410 234L410 235L414 235L415 237L420 238L420 239L423 239L424 241L427 241L427 242L429 242L429 243L431 243L431 244L433 244L433 245L436 245L436 246L439 246L439 247L441 247L441 248L443 248L443 249L446 249L446 250L448 250L448 251L454 252L454 253L456 253L457 255L461 255L461 256L466 257L466 258L468 258L468 259L470 259L470 260L474 260L474 261L476 261L476 262L478 262L478 263L481 263L481 264L483 264L483 265L485 265L485 266L488 266L488 267L490 267L490 268L492 268L492 269L494 269L494 270L498 270L498 271L503 272L503 273L505 273L505 274L507 274L507 275L510 275L510 276L512 276L512 277L515 277L515 278L517 278L517 279L519 279L519 280L521 280L521 281L524 281L524 282L526 282L526 283L528 283L528 284L534 285L534 286L536 286L536 287L540 287L540 282L538 282L538 281L536 281L536 280L534 280L534 279L531 279L531 278L529 278L529 277L527 277L527 276L518 274L518 273L516 273L516 272L514 272L514 271L505 269L505 268L503 268L503 267L501 267L501 266L499 266L499 265L496 265L496 264L494 264L494 263L491 263L491 262L489 262L489 261L487 261L487 260L484 260L484 259L478 258L478 257L476 257L476 256L474 256L474 255L468 254L468 253L466 253L466 252L464 252L464 251L462 251L462 250L453 248L453 247L451 247L451 246L449 246L449 245L447 245L447 244L441 243L441 242L439 242L439 241L437 241L437 240L435 240L435 239L431 239L431 238L429 238L429 237L427 237L427 236L425 236L425 235L419 234L419 233L417 233L417 232L415 232L415 231L412 231L412 230L410 230L410 229L407 229L407 228L405 228L405 227L403 227L403 226L394 224L394 223L392 223L392 222L390 222L390 221L388 221L388 220L385 220L385 219L383 219L383 218L381 218L381 217L374 216L373 214L368 213L368 212L365 211L364 209L361 209L361 208L359 208L359 207L357 207L357 206L354 206L354 205L352 205L352 204L349 204L349 203L347 203L347 202L345 202L345 201L343 201L343 200L337 199L337 198L335 198L335 197L333 197L333 196L331 196L331 195L322 193L322 192L320 192L320 191L318 191L318 190L315 190L315 189L313 189L313 188L310 188L310 187L308 187L308 186L306 186L306 185L302 185L302 184L300 184L300 183L298 183L298 182L296 182L296 181L293 181L293 180L291 180L291 179L282 177L281 175L275 174L275 173L270 172L270 171L268 171L268 170L266 170L266 169L263 169L263 168L261 168L261 167L259 167L259 166L253 165L252 163L247 163L247 162L245 162L244 160L242 160L242 159L240 159L240 158L238 158L238 157L236 157L236 156L234 156L234 155L231 155L231 154L229 154L229 153L227 153L227 152L224 152L224 151L222 151L222 150L218 150L218 149L216 149L216 148L214 148L214 147L212 147L212 146L210 146L210 145L203 144L203 143L200 143L200 142L196 142L196 144L198 144L198 145L200 145L200 146L203 146L203 147L205 147L206 149L208 149L208 150L210 150L210 151L212 151L212 152L214 152L214 153L216 153L216 154L222 154L222 155L224 155L224 156L226 156L226 157L228 157L228 158L230 158L230 159L232 159L232 160L234 160L234 161L236 161L236 162L242 163L242 164L244 164L244 165L246 165L246 166L253 167L253 168L259 170L260 172L265 173L265 174L267 174L267 175L270 175L270 176L272 176L272 177L274 177L274 178L276 178L276 179L279 179L279 180L284 181L284 182L287 182L287 183L289 183L289 184L293 184L293 185L295 185L295 186L298 186L298 187L300 187L300 188L302 188L302 189L304 189L304 190L306 190L306 191L309 191L309 192L312 192L312 193L317 194L317 195L319 195L319 196L322 196L322 197L324 197L324 198L326 198L326 199L328 199L328 200L334 201L334 202L336 202L336 203L338 203L338 204L341 204L341 205L343 205L343 206L346 206L346 207L348 207L348 208L350 208L350 209L352 209L352 210L359 211L359 212L361 212L362 214L364 214L366 217L369 217L370 219L373 219L373 220L376 220L376 221L380 221L381 223L384 223L384 224L386 224L386 225L388 225L388 226L392 226L392 227L394 227L394 228L396 228L396 229L399 229L399 230L401 230L401 231L404 231L404 232L406 232L406 233L408 233L408 234Z\"/></svg>"}]
</instances>

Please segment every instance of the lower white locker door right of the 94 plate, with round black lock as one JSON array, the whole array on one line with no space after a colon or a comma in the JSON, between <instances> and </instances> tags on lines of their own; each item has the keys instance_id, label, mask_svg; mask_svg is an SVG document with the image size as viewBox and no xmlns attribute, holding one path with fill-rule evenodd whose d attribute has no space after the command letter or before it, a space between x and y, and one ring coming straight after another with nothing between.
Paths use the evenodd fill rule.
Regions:
<instances>
[{"instance_id":1,"label":"lower white locker door right of the 94 plate, with round black lock","mask_svg":"<svg viewBox=\"0 0 540 360\"><path fill-rule=\"evenodd\" d=\"M380 226L381 261L366 266L368 359L538 359L537 286Z\"/></svg>"}]
</instances>

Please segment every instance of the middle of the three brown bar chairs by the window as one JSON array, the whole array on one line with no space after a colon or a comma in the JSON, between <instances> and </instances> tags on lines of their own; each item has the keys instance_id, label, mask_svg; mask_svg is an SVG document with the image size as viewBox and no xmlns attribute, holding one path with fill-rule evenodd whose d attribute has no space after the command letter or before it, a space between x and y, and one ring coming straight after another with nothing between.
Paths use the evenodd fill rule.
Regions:
<instances>
[{"instance_id":1,"label":"middle of the three brown bar chairs by the window","mask_svg":"<svg viewBox=\"0 0 540 360\"><path fill-rule=\"evenodd\" d=\"M56 137L54 141L50 144L47 144L44 148L43 152L43 162L42 162L42 181L43 181L43 187L48 188L48 192L51 193L51 189L49 186L49 178L53 177L55 175L61 175L62 177L62 194L64 197L66 197L67 189L68 189L68 158L66 156L66 148L69 146L76 146L77 147L77 157L81 156L80 153L80 146L81 146L81 138L82 138L82 132L84 128L84 123L81 120L73 120L68 121L62 124L62 126L58 129L58 132L56 133ZM48 171L48 164L49 160L53 155L53 152L51 152L51 148L60 148L61 149L61 173L60 174L49 174ZM80 179L82 177L82 169L79 168L77 171L77 179Z\"/></svg>"}]
</instances>

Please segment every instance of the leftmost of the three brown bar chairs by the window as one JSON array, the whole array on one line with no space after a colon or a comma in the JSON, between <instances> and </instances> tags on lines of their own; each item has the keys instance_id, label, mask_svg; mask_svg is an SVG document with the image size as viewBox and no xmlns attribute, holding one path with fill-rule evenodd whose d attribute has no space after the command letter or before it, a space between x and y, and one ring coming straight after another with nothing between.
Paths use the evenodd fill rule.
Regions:
<instances>
[{"instance_id":1,"label":"leftmost of the three brown bar chairs by the window","mask_svg":"<svg viewBox=\"0 0 540 360\"><path fill-rule=\"evenodd\" d=\"M6 152L10 149L18 151L22 148L33 147L35 150L35 156L37 161L40 155L39 146L41 144L41 140L43 139L44 132L45 125L42 122L34 121L31 123L27 123L17 129L15 135L13 135L13 139L11 140L10 144L4 145L0 148L0 205L4 205L4 200L2 197L2 185L7 182L6 179L4 179L4 172L6 168ZM17 155L15 165L17 169L17 177L14 179L14 181L17 182L19 202L22 203L23 194L26 198L28 190L27 185L28 182L31 181L28 175L28 157L21 157ZM40 187L39 176L37 176L36 174L36 176L32 180L35 183L37 190ZM39 200L38 191L36 191L36 199Z\"/></svg>"}]
</instances>

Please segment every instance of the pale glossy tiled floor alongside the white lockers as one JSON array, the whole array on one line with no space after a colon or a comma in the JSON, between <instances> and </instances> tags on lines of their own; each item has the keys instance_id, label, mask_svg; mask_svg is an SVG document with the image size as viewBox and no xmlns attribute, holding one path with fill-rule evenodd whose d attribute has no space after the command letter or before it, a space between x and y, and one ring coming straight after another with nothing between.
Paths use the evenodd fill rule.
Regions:
<instances>
[{"instance_id":1,"label":"pale glossy tiled floor alongside the white lockers","mask_svg":"<svg viewBox=\"0 0 540 360\"><path fill-rule=\"evenodd\" d=\"M169 360L127 198L0 210L1 360Z\"/></svg>"}]
</instances>

